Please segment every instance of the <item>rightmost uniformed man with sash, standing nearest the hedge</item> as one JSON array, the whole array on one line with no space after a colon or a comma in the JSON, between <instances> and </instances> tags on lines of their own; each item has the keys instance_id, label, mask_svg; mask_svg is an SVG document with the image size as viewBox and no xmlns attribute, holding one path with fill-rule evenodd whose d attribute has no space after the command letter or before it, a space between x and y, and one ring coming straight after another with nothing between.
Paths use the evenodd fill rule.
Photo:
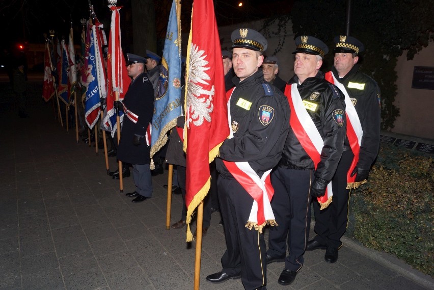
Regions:
<instances>
[{"instance_id":1,"label":"rightmost uniformed man with sash, standing nearest the hedge","mask_svg":"<svg viewBox=\"0 0 434 290\"><path fill-rule=\"evenodd\" d=\"M366 182L379 147L380 90L377 83L359 71L359 53L363 44L351 36L336 36L332 71L325 78L345 94L348 122L344 152L332 179L333 202L324 210L314 204L315 238L306 250L327 249L324 259L338 260L341 236L348 225L348 200L351 188ZM351 126L352 130L349 129ZM354 133L353 133L354 132Z\"/></svg>"}]
</instances>

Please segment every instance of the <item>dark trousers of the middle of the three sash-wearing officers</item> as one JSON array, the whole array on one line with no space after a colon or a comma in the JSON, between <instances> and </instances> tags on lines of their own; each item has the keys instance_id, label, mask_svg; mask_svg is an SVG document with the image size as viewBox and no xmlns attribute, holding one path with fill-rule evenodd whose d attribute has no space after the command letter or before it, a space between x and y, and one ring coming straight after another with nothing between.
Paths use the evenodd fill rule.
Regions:
<instances>
[{"instance_id":1,"label":"dark trousers of the middle of the three sash-wearing officers","mask_svg":"<svg viewBox=\"0 0 434 290\"><path fill-rule=\"evenodd\" d=\"M310 229L310 184L313 170L278 167L271 174L274 196L271 201L278 226L269 227L268 251L270 256L286 254L285 268L299 271ZM225 224L226 225L226 224Z\"/></svg>"}]
</instances>

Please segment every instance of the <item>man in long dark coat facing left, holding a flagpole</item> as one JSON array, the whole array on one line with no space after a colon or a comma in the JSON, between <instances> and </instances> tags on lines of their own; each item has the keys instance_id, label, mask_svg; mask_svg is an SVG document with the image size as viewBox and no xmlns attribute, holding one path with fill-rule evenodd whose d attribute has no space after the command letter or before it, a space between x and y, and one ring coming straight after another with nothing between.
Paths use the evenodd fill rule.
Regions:
<instances>
[{"instance_id":1,"label":"man in long dark coat facing left, holding a flagpole","mask_svg":"<svg viewBox=\"0 0 434 290\"><path fill-rule=\"evenodd\" d=\"M150 170L150 134L148 127L154 111L154 89L145 71L146 59L127 54L127 72L132 82L125 94L123 103L115 106L125 112L121 139L118 146L118 159L132 164L135 191L127 193L135 197L132 202L141 202L152 196Z\"/></svg>"}]
</instances>

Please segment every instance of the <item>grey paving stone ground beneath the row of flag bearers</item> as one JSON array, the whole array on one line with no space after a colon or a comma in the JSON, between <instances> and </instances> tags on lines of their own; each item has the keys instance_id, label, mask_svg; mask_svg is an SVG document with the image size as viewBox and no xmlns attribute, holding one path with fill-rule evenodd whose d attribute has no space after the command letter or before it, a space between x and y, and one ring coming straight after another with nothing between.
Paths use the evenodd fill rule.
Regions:
<instances>
[{"instance_id":1,"label":"grey paving stone ground beneath the row of flag bearers","mask_svg":"<svg viewBox=\"0 0 434 290\"><path fill-rule=\"evenodd\" d=\"M0 92L6 86L0 83ZM29 83L30 118L20 119L6 101L0 109L0 290L193 289L195 243L185 242L185 227L166 229L167 171L153 177L152 198L131 203L106 174L103 151L96 155L93 144L76 143L75 130L61 127L41 91L41 82ZM110 169L116 166L111 158ZM124 193L133 190L132 177L125 178ZM181 196L173 195L171 224L179 220L181 204ZM219 221L220 214L212 214L203 239L200 289L241 290L241 280L205 280L221 270ZM267 288L434 288L430 277L399 261L384 262L354 241L334 264L323 255L306 252L290 286L277 283L283 263L268 265Z\"/></svg>"}]
</instances>

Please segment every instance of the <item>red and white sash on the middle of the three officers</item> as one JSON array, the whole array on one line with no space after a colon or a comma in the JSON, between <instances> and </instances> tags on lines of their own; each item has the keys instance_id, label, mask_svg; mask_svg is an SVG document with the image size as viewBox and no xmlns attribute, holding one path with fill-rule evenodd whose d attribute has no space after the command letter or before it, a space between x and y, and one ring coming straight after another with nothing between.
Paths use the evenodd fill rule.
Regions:
<instances>
[{"instance_id":1,"label":"red and white sash on the middle of the three officers","mask_svg":"<svg viewBox=\"0 0 434 290\"><path fill-rule=\"evenodd\" d=\"M303 149L305 149L312 159L316 169L321 161L320 154L324 146L324 140L322 140L315 123L306 111L300 92L297 89L297 84L286 85L285 96L291 109L289 124L294 131L295 137L297 137ZM321 209L329 206L332 202L332 196L332 182L329 182L327 189L325 189L325 195L318 197Z\"/></svg>"}]
</instances>

